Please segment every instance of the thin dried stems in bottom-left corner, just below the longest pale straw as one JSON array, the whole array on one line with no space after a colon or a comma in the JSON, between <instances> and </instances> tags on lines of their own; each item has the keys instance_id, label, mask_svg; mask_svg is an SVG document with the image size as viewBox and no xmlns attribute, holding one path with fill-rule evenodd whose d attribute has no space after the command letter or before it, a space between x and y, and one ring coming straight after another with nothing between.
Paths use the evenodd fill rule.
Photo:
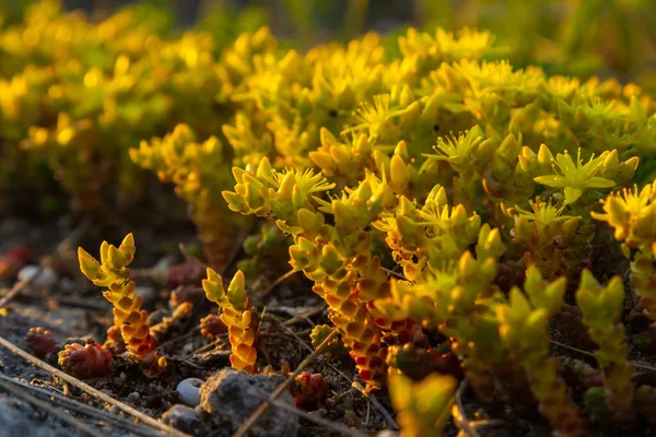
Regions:
<instances>
[{"instance_id":1,"label":"thin dried stems in bottom-left corner, just below the longest pale straw","mask_svg":"<svg viewBox=\"0 0 656 437\"><path fill-rule=\"evenodd\" d=\"M14 386L20 386L27 390L32 390L36 393L46 395L50 399L54 399L54 400L56 399L59 403L61 403L61 406L63 406L67 410L75 411L80 414L84 414L90 417L94 417L98 421L105 421L105 422L112 423L113 425L116 425L117 427L119 427L121 429L129 430L130 433L139 434L141 436L147 436L147 437L162 436L162 433L160 433L156 429L153 429L151 427L148 427L148 426L134 423L134 422L130 422L127 418L107 413L104 410L93 408L91 405L87 405L87 404L77 401L74 399L66 398L66 397L59 394L59 392L56 392L52 390L46 390L45 388L39 387L39 386L33 386L33 385L30 385L30 383L26 383L23 381L12 379L1 373L0 373L0 379L11 382Z\"/></svg>"}]
</instances>

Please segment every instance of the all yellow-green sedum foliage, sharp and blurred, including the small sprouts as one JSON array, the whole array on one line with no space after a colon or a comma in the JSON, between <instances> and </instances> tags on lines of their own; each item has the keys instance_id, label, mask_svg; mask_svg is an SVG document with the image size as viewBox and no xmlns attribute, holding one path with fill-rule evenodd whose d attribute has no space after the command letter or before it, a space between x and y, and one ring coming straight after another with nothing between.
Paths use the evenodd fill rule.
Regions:
<instances>
[{"instance_id":1,"label":"all yellow-green sedum foliage, sharp and blurred, including the small sprouts","mask_svg":"<svg viewBox=\"0 0 656 437\"><path fill-rule=\"evenodd\" d=\"M488 31L410 28L393 48L371 33L302 52L266 27L237 36L211 24L258 16L216 12L208 32L176 38L144 10L92 25L54 2L35 8L0 28L0 180L45 161L89 209L99 191L138 193L141 169L173 184L212 265L203 288L223 310L234 367L256 369L246 276L278 277L289 262L328 306L343 343L330 354L348 351L370 389L388 381L408 435L448 418L457 382L433 371L437 342L460 366L445 371L480 401L535 400L561 435L585 435L584 413L602 414L601 402L619 420L646 414L637 399L653 390L634 390L626 361L626 272L608 262L617 248L599 247L622 248L641 297L628 309L654 319L654 185L629 187L652 182L656 103L635 84L492 60L503 50ZM525 60L537 40L526 44L511 57ZM215 271L256 217L268 223L244 241L247 274L225 288ZM99 262L81 251L81 269L140 305L122 284L124 251L104 245ZM513 283L501 284L507 270ZM572 292L605 376L585 412L550 354L551 319ZM331 329L313 330L313 343Z\"/></svg>"}]
</instances>

